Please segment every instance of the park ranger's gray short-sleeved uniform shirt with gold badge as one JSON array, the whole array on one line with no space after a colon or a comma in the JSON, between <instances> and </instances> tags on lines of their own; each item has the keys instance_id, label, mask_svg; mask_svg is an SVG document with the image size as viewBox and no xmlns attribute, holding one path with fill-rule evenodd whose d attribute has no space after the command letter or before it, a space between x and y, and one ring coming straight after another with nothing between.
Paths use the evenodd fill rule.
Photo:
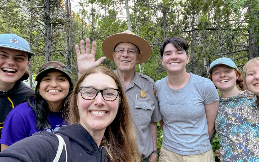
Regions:
<instances>
[{"instance_id":1,"label":"park ranger's gray short-sleeved uniform shirt with gold badge","mask_svg":"<svg viewBox=\"0 0 259 162\"><path fill-rule=\"evenodd\" d=\"M114 73L120 79L117 70ZM155 82L150 77L136 71L134 79L127 88L121 79L120 82L131 106L131 115L136 127L136 140L140 155L147 158L154 150L152 131L149 123L158 122L163 118L159 112L158 102L154 95ZM136 95L138 101L136 100Z\"/></svg>"}]
</instances>

